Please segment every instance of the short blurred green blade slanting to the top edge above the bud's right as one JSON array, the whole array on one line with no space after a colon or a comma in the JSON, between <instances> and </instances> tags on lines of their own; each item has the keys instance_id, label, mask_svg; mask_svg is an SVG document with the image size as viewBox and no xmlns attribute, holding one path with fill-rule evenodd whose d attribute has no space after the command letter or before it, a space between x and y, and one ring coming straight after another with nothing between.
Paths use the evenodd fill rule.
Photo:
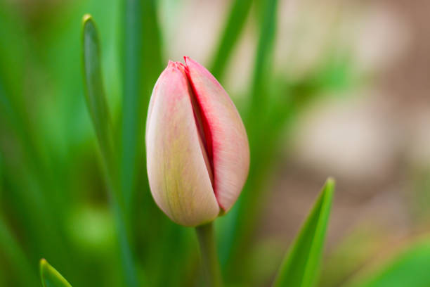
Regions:
<instances>
[{"instance_id":1,"label":"short blurred green blade slanting to the top edge above the bud's right","mask_svg":"<svg viewBox=\"0 0 430 287\"><path fill-rule=\"evenodd\" d=\"M209 69L217 79L221 79L224 75L231 51L243 30L251 5L252 0L235 0L231 6L218 49Z\"/></svg>"}]
</instances>

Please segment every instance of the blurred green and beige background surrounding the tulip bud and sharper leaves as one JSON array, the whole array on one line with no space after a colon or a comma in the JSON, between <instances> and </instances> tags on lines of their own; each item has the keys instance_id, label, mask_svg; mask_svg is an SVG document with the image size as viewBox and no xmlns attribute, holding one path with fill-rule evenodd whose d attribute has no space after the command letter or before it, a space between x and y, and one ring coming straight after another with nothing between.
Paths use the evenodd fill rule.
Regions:
<instances>
[{"instance_id":1,"label":"blurred green and beige background surrounding the tulip bud and sharper leaves","mask_svg":"<svg viewBox=\"0 0 430 287\"><path fill-rule=\"evenodd\" d=\"M135 2L0 0L0 286L39 286L41 257L73 286L127 277L84 97L84 13L132 198L136 286L200 280L193 229L159 212L145 176L150 91L183 56L214 73L249 133L247 186L216 226L228 286L270 286L328 176L318 286L347 285L426 237L429 1Z\"/></svg>"}]
</instances>

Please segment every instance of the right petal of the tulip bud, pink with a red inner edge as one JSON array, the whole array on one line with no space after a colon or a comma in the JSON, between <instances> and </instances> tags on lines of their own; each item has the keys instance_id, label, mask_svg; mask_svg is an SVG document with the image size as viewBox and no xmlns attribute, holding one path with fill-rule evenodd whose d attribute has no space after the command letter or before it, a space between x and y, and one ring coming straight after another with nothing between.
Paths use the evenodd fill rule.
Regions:
<instances>
[{"instance_id":1,"label":"right petal of the tulip bud, pink with a red inner edge","mask_svg":"<svg viewBox=\"0 0 430 287\"><path fill-rule=\"evenodd\" d=\"M209 127L214 192L220 207L230 210L242 190L249 170L247 133L227 92L211 73L195 60L185 58L188 79Z\"/></svg>"}]
</instances>

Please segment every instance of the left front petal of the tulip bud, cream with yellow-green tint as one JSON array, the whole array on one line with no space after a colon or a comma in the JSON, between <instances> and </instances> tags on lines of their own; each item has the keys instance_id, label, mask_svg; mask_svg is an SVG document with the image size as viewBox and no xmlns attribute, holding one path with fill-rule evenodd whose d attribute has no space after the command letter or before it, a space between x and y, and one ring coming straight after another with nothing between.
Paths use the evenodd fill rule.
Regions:
<instances>
[{"instance_id":1,"label":"left front petal of the tulip bud, cream with yellow-green tint","mask_svg":"<svg viewBox=\"0 0 430 287\"><path fill-rule=\"evenodd\" d=\"M174 222L190 227L219 215L191 93L183 64L169 62L152 91L146 127L152 196Z\"/></svg>"}]
</instances>

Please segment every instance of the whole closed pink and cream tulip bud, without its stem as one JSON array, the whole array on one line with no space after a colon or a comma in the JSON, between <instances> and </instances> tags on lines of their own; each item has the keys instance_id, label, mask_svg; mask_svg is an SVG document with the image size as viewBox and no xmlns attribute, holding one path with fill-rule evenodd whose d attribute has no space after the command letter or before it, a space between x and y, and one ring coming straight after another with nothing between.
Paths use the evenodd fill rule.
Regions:
<instances>
[{"instance_id":1,"label":"whole closed pink and cream tulip bud, without its stem","mask_svg":"<svg viewBox=\"0 0 430 287\"><path fill-rule=\"evenodd\" d=\"M235 105L202 65L171 62L152 91L146 122L152 196L188 227L228 212L245 184L249 145Z\"/></svg>"}]
</instances>

